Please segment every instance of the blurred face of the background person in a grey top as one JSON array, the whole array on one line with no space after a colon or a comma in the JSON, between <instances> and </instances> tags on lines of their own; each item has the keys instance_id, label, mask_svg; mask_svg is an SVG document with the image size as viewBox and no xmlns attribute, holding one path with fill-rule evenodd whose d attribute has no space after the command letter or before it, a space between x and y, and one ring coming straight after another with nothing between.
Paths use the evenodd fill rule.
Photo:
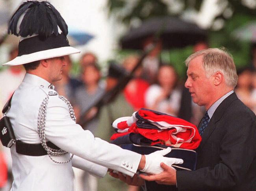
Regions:
<instances>
[{"instance_id":1,"label":"blurred face of the background person in a grey top","mask_svg":"<svg viewBox=\"0 0 256 191\"><path fill-rule=\"evenodd\" d=\"M83 71L83 82L87 85L98 84L100 80L100 71L99 69L93 65L89 64L84 67Z\"/></svg>"}]
</instances>

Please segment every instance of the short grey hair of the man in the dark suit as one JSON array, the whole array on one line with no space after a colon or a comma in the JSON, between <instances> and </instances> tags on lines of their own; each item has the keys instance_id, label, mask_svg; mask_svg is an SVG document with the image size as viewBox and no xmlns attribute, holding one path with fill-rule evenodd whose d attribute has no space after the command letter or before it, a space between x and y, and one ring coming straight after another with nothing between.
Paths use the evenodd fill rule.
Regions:
<instances>
[{"instance_id":1,"label":"short grey hair of the man in the dark suit","mask_svg":"<svg viewBox=\"0 0 256 191\"><path fill-rule=\"evenodd\" d=\"M201 55L203 56L202 61L207 77L220 71L224 75L226 85L230 87L236 86L238 77L232 55L230 55L224 48L204 49L190 55L185 61L186 66L188 67L191 60Z\"/></svg>"}]
</instances>

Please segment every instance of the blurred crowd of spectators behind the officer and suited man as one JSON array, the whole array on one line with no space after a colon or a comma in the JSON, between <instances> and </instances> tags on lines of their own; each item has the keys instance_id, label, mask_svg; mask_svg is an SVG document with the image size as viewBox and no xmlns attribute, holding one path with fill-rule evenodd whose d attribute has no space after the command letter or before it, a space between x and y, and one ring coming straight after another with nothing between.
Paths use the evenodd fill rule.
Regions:
<instances>
[{"instance_id":1,"label":"blurred crowd of spectators behind the officer and suited man","mask_svg":"<svg viewBox=\"0 0 256 191\"><path fill-rule=\"evenodd\" d=\"M194 51L205 48L207 44L198 43L194 46ZM54 84L55 89L59 95L68 98L74 107L77 122L83 129L90 130L96 137L106 141L110 141L109 138L114 133L111 123L116 118L131 116L134 111L143 107L177 116L198 125L204 109L193 104L189 92L184 88L184 79L178 76L175 67L171 63L161 62L158 57L160 50L161 45L157 45L135 71L133 69L139 63L139 55L129 55L120 64L109 62L106 76L102 76L97 57L91 52L81 56L80 74L76 77L70 73L72 60L65 56L67 65L63 68L62 80ZM16 56L17 49L13 49L10 52L10 59ZM18 87L24 74L21 65L0 71L1 108ZM114 95L113 88L120 84L125 76L132 78L124 89L120 87L119 93ZM256 46L252 47L251 63L238 69L238 76L235 89L237 96L256 113ZM110 97L108 102L101 102L107 96ZM0 146L0 191L9 190L11 186L9 155L9 149ZM109 175L98 179L75 168L74 175L77 191L139 190L134 186L128 187Z\"/></svg>"}]
</instances>

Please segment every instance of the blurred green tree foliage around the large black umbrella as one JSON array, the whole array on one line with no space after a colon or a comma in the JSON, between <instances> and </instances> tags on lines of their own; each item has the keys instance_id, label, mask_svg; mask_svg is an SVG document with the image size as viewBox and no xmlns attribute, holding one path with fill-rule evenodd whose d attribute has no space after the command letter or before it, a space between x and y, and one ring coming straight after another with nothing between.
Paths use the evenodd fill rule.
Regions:
<instances>
[{"instance_id":1,"label":"blurred green tree foliage around the large black umbrella","mask_svg":"<svg viewBox=\"0 0 256 191\"><path fill-rule=\"evenodd\" d=\"M199 11L202 2L204 0L181 0L184 3L184 10L178 15L182 15L183 11L186 9L195 9ZM112 7L109 11L113 11L115 7L121 9L121 7L125 7L127 1L124 0L108 0L108 2L112 2ZM165 16L170 15L168 13L168 5L164 3L165 1L160 0L137 0L134 5L132 11L129 14L124 16L121 20L125 24L130 24L133 18L139 18L142 21L150 18L152 16ZM219 3L223 3L223 1L219 0ZM143 7L148 6L147 4L154 5L149 6L151 9L147 14L143 14ZM228 0L229 9L233 11L233 14L230 18L225 17L224 13L217 16L216 18L221 18L224 20L224 27L219 31L209 31L208 36L208 44L209 47L226 47L229 53L233 55L234 61L236 63L237 68L248 65L250 62L250 42L242 42L239 39L234 38L232 32L239 27L247 24L249 21L256 20L256 10L250 9L242 4L241 0ZM117 51L117 57L120 59L126 55L132 53L131 51ZM138 53L138 52L133 52ZM184 61L186 58L193 53L193 49L191 46L185 47L183 49L172 49L169 51L162 51L161 60L163 62L171 63L176 68L180 77L186 76L186 66Z\"/></svg>"}]
</instances>

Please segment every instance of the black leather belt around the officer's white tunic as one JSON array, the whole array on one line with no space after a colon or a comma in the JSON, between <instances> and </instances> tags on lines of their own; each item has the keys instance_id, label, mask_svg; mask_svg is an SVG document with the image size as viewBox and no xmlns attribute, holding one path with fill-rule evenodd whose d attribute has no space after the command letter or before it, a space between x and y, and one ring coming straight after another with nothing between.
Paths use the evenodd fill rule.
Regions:
<instances>
[{"instance_id":1,"label":"black leather belt around the officer's white tunic","mask_svg":"<svg viewBox=\"0 0 256 191\"><path fill-rule=\"evenodd\" d=\"M42 144L28 144L21 142L17 140L15 142L16 145L16 152L22 155L28 155L28 156L43 156L47 155L46 150L43 148ZM52 142L48 141L46 142L46 145L48 147L51 147L52 149L59 150L60 148L54 145Z\"/></svg>"}]
</instances>

